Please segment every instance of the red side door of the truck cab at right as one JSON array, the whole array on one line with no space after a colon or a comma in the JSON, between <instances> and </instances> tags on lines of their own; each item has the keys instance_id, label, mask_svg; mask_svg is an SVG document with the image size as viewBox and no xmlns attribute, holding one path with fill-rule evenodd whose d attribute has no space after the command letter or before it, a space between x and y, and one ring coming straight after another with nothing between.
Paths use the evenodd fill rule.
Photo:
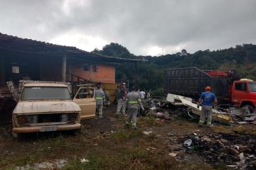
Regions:
<instances>
[{"instance_id":1,"label":"red side door of the truck cab at right","mask_svg":"<svg viewBox=\"0 0 256 170\"><path fill-rule=\"evenodd\" d=\"M239 106L241 101L248 99L247 82L235 82L233 91L233 103Z\"/></svg>"}]
</instances>

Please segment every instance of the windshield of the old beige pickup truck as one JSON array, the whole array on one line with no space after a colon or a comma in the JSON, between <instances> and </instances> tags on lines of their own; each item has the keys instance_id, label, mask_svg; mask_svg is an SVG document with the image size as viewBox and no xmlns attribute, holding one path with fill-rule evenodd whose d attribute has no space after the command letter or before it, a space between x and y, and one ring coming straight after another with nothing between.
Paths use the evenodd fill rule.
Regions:
<instances>
[{"instance_id":1,"label":"windshield of the old beige pickup truck","mask_svg":"<svg viewBox=\"0 0 256 170\"><path fill-rule=\"evenodd\" d=\"M26 87L21 100L71 99L67 88L61 87Z\"/></svg>"}]
</instances>

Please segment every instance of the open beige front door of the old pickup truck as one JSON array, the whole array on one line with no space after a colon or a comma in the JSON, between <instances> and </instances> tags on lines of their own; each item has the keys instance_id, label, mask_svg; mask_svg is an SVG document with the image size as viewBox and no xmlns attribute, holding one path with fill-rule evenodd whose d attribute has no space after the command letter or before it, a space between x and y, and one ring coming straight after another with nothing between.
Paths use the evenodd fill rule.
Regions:
<instances>
[{"instance_id":1,"label":"open beige front door of the old pickup truck","mask_svg":"<svg viewBox=\"0 0 256 170\"><path fill-rule=\"evenodd\" d=\"M81 108L81 120L95 117L96 101L94 88L79 88L73 101Z\"/></svg>"}]
</instances>

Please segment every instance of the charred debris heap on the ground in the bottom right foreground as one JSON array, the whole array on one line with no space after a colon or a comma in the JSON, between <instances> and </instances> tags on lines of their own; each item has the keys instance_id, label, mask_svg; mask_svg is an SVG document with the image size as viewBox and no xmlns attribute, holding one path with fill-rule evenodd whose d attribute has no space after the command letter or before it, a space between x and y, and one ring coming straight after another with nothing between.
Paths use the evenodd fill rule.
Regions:
<instances>
[{"instance_id":1,"label":"charred debris heap on the ground in the bottom right foreground","mask_svg":"<svg viewBox=\"0 0 256 170\"><path fill-rule=\"evenodd\" d=\"M191 133L171 142L183 145L185 153L202 156L205 161L214 166L222 165L231 169L256 167L256 137L252 135Z\"/></svg>"}]
</instances>

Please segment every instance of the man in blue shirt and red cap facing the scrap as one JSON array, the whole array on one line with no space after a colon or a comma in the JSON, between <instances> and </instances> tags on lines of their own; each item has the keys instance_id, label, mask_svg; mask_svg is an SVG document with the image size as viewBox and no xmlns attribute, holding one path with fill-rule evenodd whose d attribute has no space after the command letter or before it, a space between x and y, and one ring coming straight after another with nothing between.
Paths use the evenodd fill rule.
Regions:
<instances>
[{"instance_id":1,"label":"man in blue shirt and red cap facing the scrap","mask_svg":"<svg viewBox=\"0 0 256 170\"><path fill-rule=\"evenodd\" d=\"M212 105L217 105L217 99L215 94L211 93L211 87L206 86L206 92L202 93L197 103L197 108L202 103L201 116L199 125L203 125L207 118L207 125L211 126L212 123Z\"/></svg>"}]
</instances>

